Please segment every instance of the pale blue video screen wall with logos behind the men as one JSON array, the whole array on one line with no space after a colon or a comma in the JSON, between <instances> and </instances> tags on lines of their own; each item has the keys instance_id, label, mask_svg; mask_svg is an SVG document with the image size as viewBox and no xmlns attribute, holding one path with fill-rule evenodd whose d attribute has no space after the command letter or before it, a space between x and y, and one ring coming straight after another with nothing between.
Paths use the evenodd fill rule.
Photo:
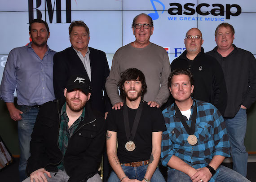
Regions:
<instances>
[{"instance_id":1,"label":"pale blue video screen wall with logos behind the men","mask_svg":"<svg viewBox=\"0 0 256 182\"><path fill-rule=\"evenodd\" d=\"M1 0L0 79L9 52L29 43L29 22L48 22L48 45L59 52L70 47L68 27L83 20L90 29L89 46L106 52L109 66L116 50L135 40L132 20L140 13L154 21L150 42L165 48L170 62L184 50L185 33L203 34L205 52L215 46L214 32L222 22L234 26L234 44L256 55L255 0Z\"/></svg>"}]
</instances>

